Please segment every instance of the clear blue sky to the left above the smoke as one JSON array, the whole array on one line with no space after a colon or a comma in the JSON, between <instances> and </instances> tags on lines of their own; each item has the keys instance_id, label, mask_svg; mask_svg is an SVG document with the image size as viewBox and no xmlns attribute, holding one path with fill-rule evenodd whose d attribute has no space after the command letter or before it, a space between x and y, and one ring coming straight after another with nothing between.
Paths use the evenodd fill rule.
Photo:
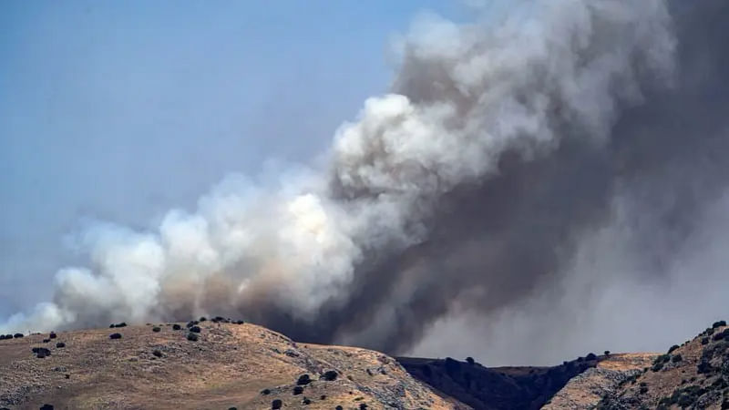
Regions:
<instances>
[{"instance_id":1,"label":"clear blue sky to the left above the smoke","mask_svg":"<svg viewBox=\"0 0 729 410\"><path fill-rule=\"evenodd\" d=\"M307 161L440 1L0 5L0 317L50 296L85 219L145 227L227 173Z\"/></svg>"}]
</instances>

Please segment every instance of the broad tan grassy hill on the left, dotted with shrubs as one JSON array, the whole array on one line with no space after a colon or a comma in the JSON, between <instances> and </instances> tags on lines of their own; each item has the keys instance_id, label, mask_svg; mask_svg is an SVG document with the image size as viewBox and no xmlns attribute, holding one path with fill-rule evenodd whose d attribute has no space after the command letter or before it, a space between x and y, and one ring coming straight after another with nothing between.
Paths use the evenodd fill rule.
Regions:
<instances>
[{"instance_id":1,"label":"broad tan grassy hill on the left, dotted with shrubs","mask_svg":"<svg viewBox=\"0 0 729 410\"><path fill-rule=\"evenodd\" d=\"M0 407L269 409L280 399L284 409L468 408L385 354L294 343L248 323L202 322L199 340L189 341L180 324L64 332L47 343L48 334L0 340ZM34 347L51 354L38 358ZM320 379L330 370L334 381ZM303 374L312 381L294 395Z\"/></svg>"}]
</instances>

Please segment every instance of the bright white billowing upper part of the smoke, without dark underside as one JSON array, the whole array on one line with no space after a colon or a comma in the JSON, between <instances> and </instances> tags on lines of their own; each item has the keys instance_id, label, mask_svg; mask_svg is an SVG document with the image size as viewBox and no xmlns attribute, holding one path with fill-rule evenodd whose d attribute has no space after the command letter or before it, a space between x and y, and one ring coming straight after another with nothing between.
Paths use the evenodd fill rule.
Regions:
<instances>
[{"instance_id":1,"label":"bright white billowing upper part of the smoke, without dark underside","mask_svg":"<svg viewBox=\"0 0 729 410\"><path fill-rule=\"evenodd\" d=\"M498 174L506 152L604 144L621 108L673 76L661 0L534 0L458 25L424 17L397 44L392 93L334 135L322 168L231 176L158 227L99 224L88 267L0 332L189 318L265 306L304 323L347 303L358 268L426 241L437 200ZM569 125L567 127L566 125ZM385 309L385 308L383 308Z\"/></svg>"}]
</instances>

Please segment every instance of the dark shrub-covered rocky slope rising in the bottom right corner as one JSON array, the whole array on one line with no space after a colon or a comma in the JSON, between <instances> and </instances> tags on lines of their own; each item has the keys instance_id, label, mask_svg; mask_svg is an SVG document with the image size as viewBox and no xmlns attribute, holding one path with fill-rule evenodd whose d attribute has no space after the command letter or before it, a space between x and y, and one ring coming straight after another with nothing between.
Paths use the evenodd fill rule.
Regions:
<instances>
[{"instance_id":1,"label":"dark shrub-covered rocky slope rising in the bottom right corner","mask_svg":"<svg viewBox=\"0 0 729 410\"><path fill-rule=\"evenodd\" d=\"M717 322L692 341L673 346L649 369L623 382L597 406L622 409L728 409L729 328Z\"/></svg>"}]
</instances>

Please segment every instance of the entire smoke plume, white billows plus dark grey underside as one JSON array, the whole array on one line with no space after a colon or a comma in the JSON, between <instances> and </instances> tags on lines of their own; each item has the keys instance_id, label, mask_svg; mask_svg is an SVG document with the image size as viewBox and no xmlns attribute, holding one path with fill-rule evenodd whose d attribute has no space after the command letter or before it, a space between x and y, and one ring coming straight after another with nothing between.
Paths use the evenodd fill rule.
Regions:
<instances>
[{"instance_id":1,"label":"entire smoke plume, white billows plus dark grey underside","mask_svg":"<svg viewBox=\"0 0 729 410\"><path fill-rule=\"evenodd\" d=\"M392 92L323 164L231 176L151 231L93 227L90 267L59 271L53 302L0 329L220 313L404 352L453 315L559 300L616 221L643 253L635 275L660 280L729 168L724 22L703 21L725 11L533 0L423 17L397 42Z\"/></svg>"}]
</instances>

